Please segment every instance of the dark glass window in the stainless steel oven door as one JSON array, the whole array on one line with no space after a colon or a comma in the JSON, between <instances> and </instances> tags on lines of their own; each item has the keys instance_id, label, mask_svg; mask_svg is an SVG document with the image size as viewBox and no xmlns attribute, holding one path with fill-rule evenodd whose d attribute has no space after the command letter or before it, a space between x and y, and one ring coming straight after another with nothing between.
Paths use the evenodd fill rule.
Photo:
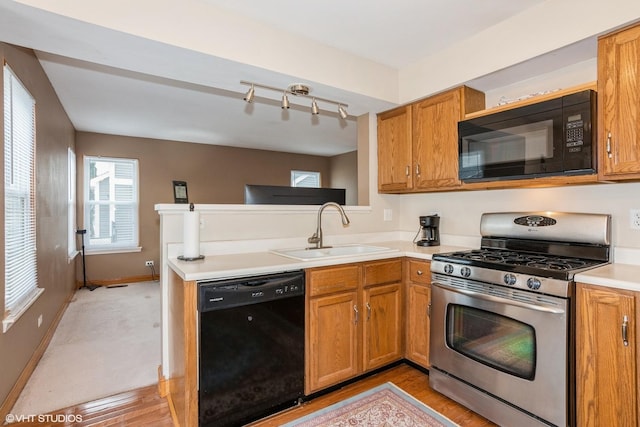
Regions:
<instances>
[{"instance_id":1,"label":"dark glass window in the stainless steel oven door","mask_svg":"<svg viewBox=\"0 0 640 427\"><path fill-rule=\"evenodd\" d=\"M447 345L484 365L533 380L536 336L532 326L490 311L447 306Z\"/></svg>"}]
</instances>

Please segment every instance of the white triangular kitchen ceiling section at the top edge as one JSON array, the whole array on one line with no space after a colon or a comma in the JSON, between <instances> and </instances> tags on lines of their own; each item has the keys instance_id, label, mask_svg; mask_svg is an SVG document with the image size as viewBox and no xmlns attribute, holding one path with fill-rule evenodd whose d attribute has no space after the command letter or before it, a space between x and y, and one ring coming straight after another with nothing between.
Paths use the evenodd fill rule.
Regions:
<instances>
[{"instance_id":1,"label":"white triangular kitchen ceiling section at the top edge","mask_svg":"<svg viewBox=\"0 0 640 427\"><path fill-rule=\"evenodd\" d=\"M402 68L544 0L322 0L307 5L291 0L204 1Z\"/></svg>"}]
</instances>

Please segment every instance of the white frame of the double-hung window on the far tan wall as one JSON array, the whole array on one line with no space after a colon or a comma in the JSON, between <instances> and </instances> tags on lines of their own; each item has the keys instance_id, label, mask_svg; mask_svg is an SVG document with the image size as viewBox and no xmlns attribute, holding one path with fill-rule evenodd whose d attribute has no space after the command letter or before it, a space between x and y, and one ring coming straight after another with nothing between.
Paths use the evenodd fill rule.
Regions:
<instances>
[{"instance_id":1,"label":"white frame of the double-hung window on the far tan wall","mask_svg":"<svg viewBox=\"0 0 640 427\"><path fill-rule=\"evenodd\" d=\"M118 201L118 200L109 200L109 201L96 201L90 200L90 190L91 190L91 177L90 177L90 164L94 161L100 162L113 162L113 163L131 163L133 166L133 200L131 201ZM139 173L139 162L138 159L129 159L129 158L121 158L121 157L102 157L102 156L84 156L83 157L83 169L84 169L84 179L83 179L83 228L87 230L87 234L84 235L85 241L85 254L110 254L110 253L126 253L126 252L140 252L142 248L139 246L140 242L140 173ZM134 219L133 223L133 232L132 232L132 241L128 243L102 243L102 244L92 244L91 243L91 226L90 226L90 209L92 206L97 205L125 205L132 206L133 214L132 218Z\"/></svg>"}]
</instances>

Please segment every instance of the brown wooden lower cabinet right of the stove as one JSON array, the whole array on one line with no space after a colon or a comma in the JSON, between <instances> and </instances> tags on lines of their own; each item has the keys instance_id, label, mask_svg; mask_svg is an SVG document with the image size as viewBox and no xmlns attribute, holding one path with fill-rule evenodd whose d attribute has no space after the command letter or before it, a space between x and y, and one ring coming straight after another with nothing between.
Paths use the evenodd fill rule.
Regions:
<instances>
[{"instance_id":1,"label":"brown wooden lower cabinet right of the stove","mask_svg":"<svg viewBox=\"0 0 640 427\"><path fill-rule=\"evenodd\" d=\"M577 284L578 426L640 425L638 298L637 292Z\"/></svg>"}]
</instances>

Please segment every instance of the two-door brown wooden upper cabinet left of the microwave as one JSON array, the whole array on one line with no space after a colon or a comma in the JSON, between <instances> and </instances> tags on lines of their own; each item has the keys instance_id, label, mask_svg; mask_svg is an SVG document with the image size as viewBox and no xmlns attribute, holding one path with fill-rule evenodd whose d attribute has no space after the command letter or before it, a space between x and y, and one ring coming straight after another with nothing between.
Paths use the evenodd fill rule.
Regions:
<instances>
[{"instance_id":1,"label":"two-door brown wooden upper cabinet left of the microwave","mask_svg":"<svg viewBox=\"0 0 640 427\"><path fill-rule=\"evenodd\" d=\"M461 86L380 113L378 191L439 191L460 186L458 121L484 107L484 93Z\"/></svg>"}]
</instances>

